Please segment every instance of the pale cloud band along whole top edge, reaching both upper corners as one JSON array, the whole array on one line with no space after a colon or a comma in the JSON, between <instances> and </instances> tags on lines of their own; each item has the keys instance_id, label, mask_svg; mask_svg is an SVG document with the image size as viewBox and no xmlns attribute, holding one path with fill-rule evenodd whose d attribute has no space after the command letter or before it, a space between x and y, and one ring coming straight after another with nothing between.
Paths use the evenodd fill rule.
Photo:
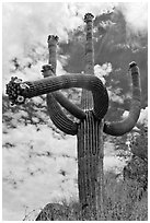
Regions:
<instances>
[{"instance_id":1,"label":"pale cloud band along whole top edge, reaching both upper corners","mask_svg":"<svg viewBox=\"0 0 150 223\"><path fill-rule=\"evenodd\" d=\"M147 31L147 3L3 2L2 5L3 77L9 75L12 67L10 60L14 57L24 63L24 60L31 60L31 48L41 45L47 48L49 34L58 35L60 42L67 42L69 31L84 25L83 16L86 12L96 16L116 7L125 16L127 30L141 34ZM28 77L34 79L33 73Z\"/></svg>"}]
</instances>

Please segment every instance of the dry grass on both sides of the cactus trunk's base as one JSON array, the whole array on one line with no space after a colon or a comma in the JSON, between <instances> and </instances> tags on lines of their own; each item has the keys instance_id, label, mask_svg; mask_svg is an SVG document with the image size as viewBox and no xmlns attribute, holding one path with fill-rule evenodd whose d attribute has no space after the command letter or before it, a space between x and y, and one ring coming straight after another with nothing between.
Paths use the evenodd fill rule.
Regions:
<instances>
[{"instance_id":1,"label":"dry grass on both sides of the cactus trunk's base","mask_svg":"<svg viewBox=\"0 0 150 223\"><path fill-rule=\"evenodd\" d=\"M141 197L140 188L132 180L117 180L115 175L105 175L105 221L148 221L148 195ZM28 220L26 216L24 220ZM35 220L36 216L33 219ZM62 201L47 204L36 221L81 221L81 208L78 202Z\"/></svg>"}]
</instances>

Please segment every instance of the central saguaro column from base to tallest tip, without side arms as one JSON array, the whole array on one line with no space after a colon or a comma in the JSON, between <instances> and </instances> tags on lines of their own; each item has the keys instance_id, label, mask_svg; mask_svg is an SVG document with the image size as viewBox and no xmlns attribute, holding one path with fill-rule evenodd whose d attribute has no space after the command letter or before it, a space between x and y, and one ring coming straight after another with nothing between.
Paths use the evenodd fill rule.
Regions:
<instances>
[{"instance_id":1,"label":"central saguaro column from base to tallest tip, without side arms","mask_svg":"<svg viewBox=\"0 0 150 223\"><path fill-rule=\"evenodd\" d=\"M86 13L85 73L94 74L93 15ZM105 104L106 102L104 102ZM91 111L91 92L82 90L85 119L78 127L78 186L83 220L103 220L103 119ZM94 109L95 110L95 109ZM97 113L96 113L97 114Z\"/></svg>"}]
</instances>

